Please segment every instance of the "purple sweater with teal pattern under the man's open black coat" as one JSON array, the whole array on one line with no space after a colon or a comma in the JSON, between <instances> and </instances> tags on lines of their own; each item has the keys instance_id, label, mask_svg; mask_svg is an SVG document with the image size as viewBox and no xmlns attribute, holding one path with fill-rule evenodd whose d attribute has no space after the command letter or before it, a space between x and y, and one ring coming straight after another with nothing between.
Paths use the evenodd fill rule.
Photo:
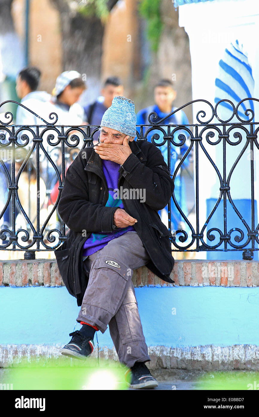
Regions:
<instances>
[{"instance_id":1,"label":"purple sweater with teal pattern under the man's open black coat","mask_svg":"<svg viewBox=\"0 0 259 417\"><path fill-rule=\"evenodd\" d=\"M120 164L113 162L113 161L106 160L106 159L103 159L102 163L103 163L104 175L106 178L108 191L109 191L109 198L105 206L124 208L121 199L113 198L114 196L113 190L115 188L118 189L118 178L119 178L118 170L120 168ZM106 234L92 233L89 236L89 238L86 239L86 241L84 242L84 247L83 247L83 252L82 252L83 260L87 256L94 254L96 251L99 251L99 249L107 245L110 240L115 239L116 237L121 236L122 234L129 232L129 231L135 231L134 226L119 228L118 230L112 231L108 234L107 233Z\"/></svg>"}]
</instances>

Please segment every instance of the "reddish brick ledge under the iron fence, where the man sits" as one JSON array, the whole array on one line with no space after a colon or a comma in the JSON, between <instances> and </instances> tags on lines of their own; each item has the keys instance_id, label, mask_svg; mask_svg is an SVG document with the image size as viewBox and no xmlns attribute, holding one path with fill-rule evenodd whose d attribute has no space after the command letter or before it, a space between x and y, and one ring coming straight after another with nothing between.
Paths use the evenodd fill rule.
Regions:
<instances>
[{"instance_id":1,"label":"reddish brick ledge under the iron fence, where the man sits","mask_svg":"<svg viewBox=\"0 0 259 417\"><path fill-rule=\"evenodd\" d=\"M135 287L141 286L259 286L258 261L178 260L170 277L175 284L162 281L143 266L133 273ZM0 286L59 287L64 283L55 259L0 261Z\"/></svg>"}]
</instances>

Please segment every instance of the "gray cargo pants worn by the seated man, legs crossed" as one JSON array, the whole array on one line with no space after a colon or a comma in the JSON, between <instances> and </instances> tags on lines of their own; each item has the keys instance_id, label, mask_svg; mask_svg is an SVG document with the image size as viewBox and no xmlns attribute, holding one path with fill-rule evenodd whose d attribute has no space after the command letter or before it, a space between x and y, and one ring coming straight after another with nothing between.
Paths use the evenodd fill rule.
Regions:
<instances>
[{"instance_id":1,"label":"gray cargo pants worn by the seated man, legs crossed","mask_svg":"<svg viewBox=\"0 0 259 417\"><path fill-rule=\"evenodd\" d=\"M132 282L133 269L150 257L136 232L127 232L89 255L90 270L77 322L86 322L104 333L109 331L119 361L132 367L150 361Z\"/></svg>"}]
</instances>

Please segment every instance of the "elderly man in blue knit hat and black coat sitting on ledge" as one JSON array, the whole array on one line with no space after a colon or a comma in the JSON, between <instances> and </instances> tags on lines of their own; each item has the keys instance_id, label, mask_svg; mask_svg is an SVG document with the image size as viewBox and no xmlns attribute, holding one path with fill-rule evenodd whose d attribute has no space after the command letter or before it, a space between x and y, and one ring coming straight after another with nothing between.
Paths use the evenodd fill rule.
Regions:
<instances>
[{"instance_id":1,"label":"elderly man in blue knit hat and black coat sitting on ledge","mask_svg":"<svg viewBox=\"0 0 259 417\"><path fill-rule=\"evenodd\" d=\"M145 365L150 357L131 278L146 265L174 282L170 233L158 215L174 184L160 150L134 141L135 135L133 101L113 98L100 142L81 150L67 170L58 211L70 231L55 254L64 284L81 306L76 321L82 327L69 334L62 354L88 357L95 332L109 325L119 361L130 368L126 381L138 389L158 382Z\"/></svg>"}]
</instances>

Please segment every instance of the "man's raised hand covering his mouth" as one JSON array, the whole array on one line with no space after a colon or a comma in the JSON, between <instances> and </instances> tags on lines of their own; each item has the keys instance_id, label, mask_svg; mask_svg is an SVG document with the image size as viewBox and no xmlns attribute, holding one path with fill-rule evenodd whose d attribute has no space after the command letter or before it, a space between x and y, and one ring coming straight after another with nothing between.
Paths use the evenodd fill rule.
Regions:
<instances>
[{"instance_id":1,"label":"man's raised hand covering his mouth","mask_svg":"<svg viewBox=\"0 0 259 417\"><path fill-rule=\"evenodd\" d=\"M94 150L101 159L108 159L122 165L132 153L128 140L129 136L125 136L122 145L118 143L98 143L98 145L94 146Z\"/></svg>"}]
</instances>

